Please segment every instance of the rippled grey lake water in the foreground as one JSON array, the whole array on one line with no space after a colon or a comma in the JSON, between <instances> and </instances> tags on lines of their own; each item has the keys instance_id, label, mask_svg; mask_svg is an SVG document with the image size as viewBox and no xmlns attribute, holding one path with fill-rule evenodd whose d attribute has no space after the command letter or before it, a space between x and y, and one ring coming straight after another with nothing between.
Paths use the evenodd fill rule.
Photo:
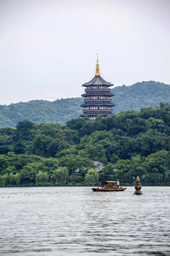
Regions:
<instances>
[{"instance_id":1,"label":"rippled grey lake water in the foreground","mask_svg":"<svg viewBox=\"0 0 170 256\"><path fill-rule=\"evenodd\" d=\"M0 255L170 255L170 187L0 188Z\"/></svg>"}]
</instances>

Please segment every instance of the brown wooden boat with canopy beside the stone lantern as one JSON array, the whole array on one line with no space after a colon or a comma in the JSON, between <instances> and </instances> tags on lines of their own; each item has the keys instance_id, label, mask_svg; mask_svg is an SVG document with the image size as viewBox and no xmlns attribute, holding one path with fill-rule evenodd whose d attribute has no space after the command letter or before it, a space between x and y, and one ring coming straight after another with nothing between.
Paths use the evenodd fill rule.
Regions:
<instances>
[{"instance_id":1,"label":"brown wooden boat with canopy beside the stone lantern","mask_svg":"<svg viewBox=\"0 0 170 256\"><path fill-rule=\"evenodd\" d=\"M125 191L126 188L117 187L117 181L101 181L101 185L98 188L92 188L96 192L113 192L113 191Z\"/></svg>"}]
</instances>

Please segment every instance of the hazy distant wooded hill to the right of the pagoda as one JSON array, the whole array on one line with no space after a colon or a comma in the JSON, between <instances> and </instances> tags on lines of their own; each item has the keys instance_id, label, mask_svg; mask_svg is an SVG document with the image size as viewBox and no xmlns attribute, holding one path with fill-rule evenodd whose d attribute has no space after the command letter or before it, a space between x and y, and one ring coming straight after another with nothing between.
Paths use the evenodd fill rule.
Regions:
<instances>
[{"instance_id":1,"label":"hazy distant wooded hill to the right of the pagoda","mask_svg":"<svg viewBox=\"0 0 170 256\"><path fill-rule=\"evenodd\" d=\"M137 82L135 85L115 87L112 92L115 94L115 113L154 107L158 106L159 102L170 103L170 85L162 82Z\"/></svg>"}]
</instances>

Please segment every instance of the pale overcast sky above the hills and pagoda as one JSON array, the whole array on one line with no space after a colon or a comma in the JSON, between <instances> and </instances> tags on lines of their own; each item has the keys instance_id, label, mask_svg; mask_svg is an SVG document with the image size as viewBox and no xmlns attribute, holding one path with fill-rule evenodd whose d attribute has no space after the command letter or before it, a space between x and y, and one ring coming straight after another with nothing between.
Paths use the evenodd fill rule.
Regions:
<instances>
[{"instance_id":1,"label":"pale overcast sky above the hills and pagoda","mask_svg":"<svg viewBox=\"0 0 170 256\"><path fill-rule=\"evenodd\" d=\"M170 83L170 0L0 0L0 105L79 97L94 75Z\"/></svg>"}]
</instances>

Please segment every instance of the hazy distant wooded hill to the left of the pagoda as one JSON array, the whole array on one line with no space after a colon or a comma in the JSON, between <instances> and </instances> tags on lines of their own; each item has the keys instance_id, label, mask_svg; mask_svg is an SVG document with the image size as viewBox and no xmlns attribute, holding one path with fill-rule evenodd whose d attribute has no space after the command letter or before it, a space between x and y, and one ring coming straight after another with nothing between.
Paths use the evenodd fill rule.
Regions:
<instances>
[{"instance_id":1,"label":"hazy distant wooded hill to the left of the pagoda","mask_svg":"<svg viewBox=\"0 0 170 256\"><path fill-rule=\"evenodd\" d=\"M55 100L31 100L11 105L0 105L0 127L16 127L18 122L28 119L35 124L41 122L59 122L79 117L81 97Z\"/></svg>"}]
</instances>

